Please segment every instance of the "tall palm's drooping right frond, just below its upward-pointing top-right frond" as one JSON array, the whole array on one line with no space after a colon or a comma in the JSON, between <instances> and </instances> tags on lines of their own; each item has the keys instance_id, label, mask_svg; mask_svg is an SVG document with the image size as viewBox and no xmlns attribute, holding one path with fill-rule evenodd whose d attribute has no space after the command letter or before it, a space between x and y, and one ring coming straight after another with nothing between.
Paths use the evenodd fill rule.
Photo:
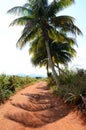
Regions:
<instances>
[{"instance_id":1,"label":"tall palm's drooping right frond, just below its upward-pointing top-right frond","mask_svg":"<svg viewBox=\"0 0 86 130\"><path fill-rule=\"evenodd\" d=\"M74 25L74 18L71 16L58 16L51 19L53 26L65 33L73 35L82 35L81 30Z\"/></svg>"}]
</instances>

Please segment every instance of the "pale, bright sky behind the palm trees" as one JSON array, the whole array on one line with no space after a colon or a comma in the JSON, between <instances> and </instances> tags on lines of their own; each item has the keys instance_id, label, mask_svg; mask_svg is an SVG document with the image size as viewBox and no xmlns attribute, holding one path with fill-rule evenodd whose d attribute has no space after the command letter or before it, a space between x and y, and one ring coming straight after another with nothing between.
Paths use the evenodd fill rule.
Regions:
<instances>
[{"instance_id":1,"label":"pale, bright sky behind the palm trees","mask_svg":"<svg viewBox=\"0 0 86 130\"><path fill-rule=\"evenodd\" d=\"M19 50L16 42L21 35L22 28L9 27L16 16L7 14L15 6L23 5L25 0L0 0L0 74L38 74L46 75L45 68L35 68L30 61L28 46ZM75 24L80 28L83 36L77 37L77 56L69 64L71 68L86 69L86 0L75 0L75 4L63 10L60 14L73 16Z\"/></svg>"}]
</instances>

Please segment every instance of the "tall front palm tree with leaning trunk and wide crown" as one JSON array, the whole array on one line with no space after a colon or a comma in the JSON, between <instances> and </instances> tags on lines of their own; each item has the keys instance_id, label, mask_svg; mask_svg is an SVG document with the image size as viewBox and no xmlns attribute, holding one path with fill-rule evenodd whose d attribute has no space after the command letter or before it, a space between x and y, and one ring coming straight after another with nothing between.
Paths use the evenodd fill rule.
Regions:
<instances>
[{"instance_id":1,"label":"tall front palm tree with leaning trunk and wide crown","mask_svg":"<svg viewBox=\"0 0 86 130\"><path fill-rule=\"evenodd\" d=\"M23 25L24 29L17 42L17 46L22 48L26 43L34 41L41 37L41 44L45 44L48 55L48 61L52 69L53 77L57 82L57 74L54 63L51 58L49 47L49 38L53 42L68 41L67 35L72 36L81 34L78 27L74 25L74 18L70 16L57 16L59 11L70 6L74 0L27 0L23 6L17 6L8 11L8 13L18 14L19 18L15 19L10 25ZM65 35L66 34L66 35Z\"/></svg>"}]
</instances>

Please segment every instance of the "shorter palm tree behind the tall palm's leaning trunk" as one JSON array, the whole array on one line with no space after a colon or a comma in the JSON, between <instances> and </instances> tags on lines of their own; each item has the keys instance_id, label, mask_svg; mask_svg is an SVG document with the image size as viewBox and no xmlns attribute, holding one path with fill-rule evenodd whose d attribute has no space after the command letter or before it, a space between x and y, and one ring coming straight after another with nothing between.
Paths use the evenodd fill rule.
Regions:
<instances>
[{"instance_id":1,"label":"shorter palm tree behind the tall palm's leaning trunk","mask_svg":"<svg viewBox=\"0 0 86 130\"><path fill-rule=\"evenodd\" d=\"M70 40L71 41L71 40ZM48 56L46 47L43 44L38 46L38 39L31 43L29 53L31 54L31 62L35 66L45 66L47 69L47 74L49 73L48 68L50 67L48 62ZM75 44L75 41L74 41ZM68 43L53 43L49 40L49 47L51 52L51 58L54 66L58 68L59 72L62 71L59 67L60 64L67 65L68 62L76 55L76 51L73 45Z\"/></svg>"}]
</instances>

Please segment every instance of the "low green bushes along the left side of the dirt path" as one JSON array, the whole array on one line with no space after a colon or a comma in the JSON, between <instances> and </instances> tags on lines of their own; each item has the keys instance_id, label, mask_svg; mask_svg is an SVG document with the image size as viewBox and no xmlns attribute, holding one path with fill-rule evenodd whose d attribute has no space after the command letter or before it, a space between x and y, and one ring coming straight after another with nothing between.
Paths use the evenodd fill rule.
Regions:
<instances>
[{"instance_id":1,"label":"low green bushes along the left side of the dirt path","mask_svg":"<svg viewBox=\"0 0 86 130\"><path fill-rule=\"evenodd\" d=\"M16 91L24 88L25 86L36 81L36 78L30 78L28 76L7 76L5 74L0 75L0 104L9 99Z\"/></svg>"}]
</instances>

